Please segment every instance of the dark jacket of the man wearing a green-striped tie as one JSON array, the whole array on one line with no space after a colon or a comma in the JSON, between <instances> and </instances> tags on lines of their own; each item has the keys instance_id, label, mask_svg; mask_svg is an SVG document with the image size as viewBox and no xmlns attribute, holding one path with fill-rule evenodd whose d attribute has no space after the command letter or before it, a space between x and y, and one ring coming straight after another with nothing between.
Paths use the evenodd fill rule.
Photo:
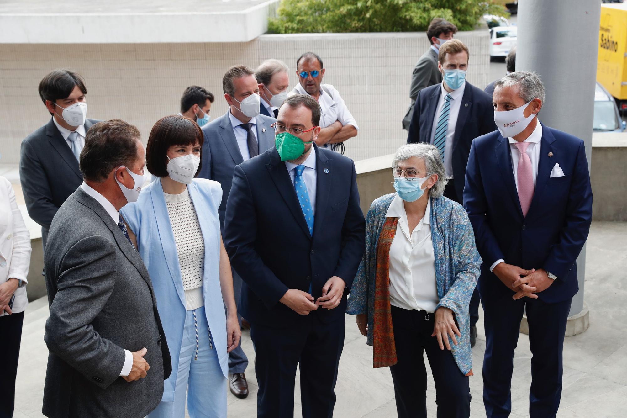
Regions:
<instances>
[{"instance_id":1,"label":"dark jacket of the man wearing a green-striped tie","mask_svg":"<svg viewBox=\"0 0 627 418\"><path fill-rule=\"evenodd\" d=\"M407 143L431 142L431 130L433 119L440 101L442 84L432 85L418 93L414 114L409 124ZM455 124L455 136L453 137L453 155L451 166L455 181L455 191L461 196L464 190L463 178L466 176L466 163L470 153L470 144L478 136L495 131L494 107L492 96L486 94L466 81L464 94L461 97L460 113Z\"/></svg>"}]
</instances>

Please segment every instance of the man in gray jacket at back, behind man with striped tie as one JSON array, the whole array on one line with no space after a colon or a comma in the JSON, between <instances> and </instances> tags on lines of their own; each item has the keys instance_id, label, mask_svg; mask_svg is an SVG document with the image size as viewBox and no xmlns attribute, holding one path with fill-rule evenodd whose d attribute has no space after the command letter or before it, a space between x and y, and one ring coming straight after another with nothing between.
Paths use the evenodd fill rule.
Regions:
<instances>
[{"instance_id":1,"label":"man in gray jacket at back, behind man with striped tie","mask_svg":"<svg viewBox=\"0 0 627 418\"><path fill-rule=\"evenodd\" d=\"M414 71L411 73L411 86L409 87L409 99L411 104L407 109L407 113L403 118L403 129L409 131L411 124L411 115L414 112L414 104L418 93L425 87L440 84L442 75L438 70L438 50L440 45L446 41L453 39L453 35L457 32L457 26L442 18L435 18L429 23L427 28L427 38L431 42L429 49L420 57Z\"/></svg>"}]
</instances>

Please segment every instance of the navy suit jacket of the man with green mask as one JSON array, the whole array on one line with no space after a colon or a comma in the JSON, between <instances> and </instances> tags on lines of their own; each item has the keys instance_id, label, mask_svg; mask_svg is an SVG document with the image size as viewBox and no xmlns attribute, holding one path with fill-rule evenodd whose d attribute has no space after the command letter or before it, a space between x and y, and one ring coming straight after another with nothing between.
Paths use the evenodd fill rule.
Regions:
<instances>
[{"instance_id":1,"label":"navy suit jacket of the man with green mask","mask_svg":"<svg viewBox=\"0 0 627 418\"><path fill-rule=\"evenodd\" d=\"M346 296L364 255L365 221L352 159L315 146L316 202L310 235L285 163L272 148L236 166L226 204L224 244L244 281L241 315L273 327L298 326L302 316L279 300L288 289L322 296L332 276L347 288L339 306L312 312L325 323L344 320Z\"/></svg>"}]
</instances>

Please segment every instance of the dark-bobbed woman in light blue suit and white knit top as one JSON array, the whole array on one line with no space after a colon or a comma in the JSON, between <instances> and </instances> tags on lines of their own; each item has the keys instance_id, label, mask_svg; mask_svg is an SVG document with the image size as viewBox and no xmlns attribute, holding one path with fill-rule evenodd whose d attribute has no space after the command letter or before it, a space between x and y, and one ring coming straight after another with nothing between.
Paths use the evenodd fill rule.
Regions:
<instances>
[{"instance_id":1,"label":"dark-bobbed woman in light blue suit and white knit top","mask_svg":"<svg viewBox=\"0 0 627 418\"><path fill-rule=\"evenodd\" d=\"M222 188L194 178L203 140L191 119L159 120L146 147L155 180L121 210L150 273L172 353L172 374L151 418L183 418L186 400L191 418L226 417L228 352L241 337L219 228Z\"/></svg>"}]
</instances>

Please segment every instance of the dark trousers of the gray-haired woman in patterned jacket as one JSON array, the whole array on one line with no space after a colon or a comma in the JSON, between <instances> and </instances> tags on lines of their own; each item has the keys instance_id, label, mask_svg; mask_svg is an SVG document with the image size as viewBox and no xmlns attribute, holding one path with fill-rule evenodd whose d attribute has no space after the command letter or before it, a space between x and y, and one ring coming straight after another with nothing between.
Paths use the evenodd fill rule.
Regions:
<instances>
[{"instance_id":1,"label":"dark trousers of the gray-haired woman in patterned jacket","mask_svg":"<svg viewBox=\"0 0 627 418\"><path fill-rule=\"evenodd\" d=\"M427 416L427 372L423 348L435 380L438 418L470 416L470 384L450 351L440 350L432 337L435 314L392 306L394 345L398 363L390 367L399 418Z\"/></svg>"}]
</instances>

